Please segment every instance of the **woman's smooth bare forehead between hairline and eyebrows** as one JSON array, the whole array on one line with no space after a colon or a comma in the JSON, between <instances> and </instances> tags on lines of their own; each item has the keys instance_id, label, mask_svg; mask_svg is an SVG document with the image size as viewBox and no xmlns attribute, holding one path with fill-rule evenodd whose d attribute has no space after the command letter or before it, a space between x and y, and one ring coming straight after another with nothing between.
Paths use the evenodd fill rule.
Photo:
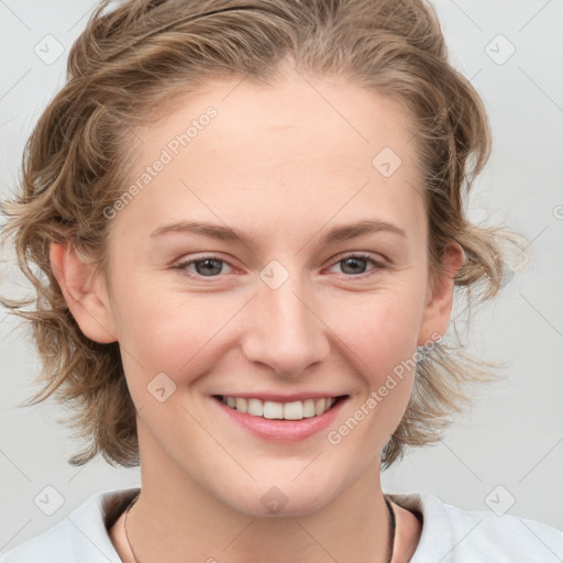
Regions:
<instances>
[{"instance_id":1,"label":"woman's smooth bare forehead between hairline and eyebrows","mask_svg":"<svg viewBox=\"0 0 563 563\"><path fill-rule=\"evenodd\" d=\"M209 84L136 132L132 183L151 177L123 219L275 222L288 233L368 208L397 219L421 205L410 126L400 103L344 79ZM159 172L146 172L156 161Z\"/></svg>"}]
</instances>

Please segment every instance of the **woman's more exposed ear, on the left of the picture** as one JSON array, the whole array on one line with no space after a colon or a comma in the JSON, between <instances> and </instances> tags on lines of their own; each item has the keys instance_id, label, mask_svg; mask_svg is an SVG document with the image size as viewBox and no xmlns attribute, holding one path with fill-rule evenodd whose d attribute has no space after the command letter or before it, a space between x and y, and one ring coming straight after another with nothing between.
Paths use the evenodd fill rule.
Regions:
<instances>
[{"instance_id":1,"label":"woman's more exposed ear, on the left of the picture","mask_svg":"<svg viewBox=\"0 0 563 563\"><path fill-rule=\"evenodd\" d=\"M108 289L95 265L81 260L68 243L52 243L49 257L53 274L82 333L101 344L115 342Z\"/></svg>"}]
</instances>

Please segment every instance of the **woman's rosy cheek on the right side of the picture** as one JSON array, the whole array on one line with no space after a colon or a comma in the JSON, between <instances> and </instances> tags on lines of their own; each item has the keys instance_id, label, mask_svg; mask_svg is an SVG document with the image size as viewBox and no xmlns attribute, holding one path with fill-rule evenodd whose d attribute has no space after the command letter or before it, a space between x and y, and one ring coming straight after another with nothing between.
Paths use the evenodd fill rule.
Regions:
<instances>
[{"instance_id":1,"label":"woman's rosy cheek on the right side of the picture","mask_svg":"<svg viewBox=\"0 0 563 563\"><path fill-rule=\"evenodd\" d=\"M351 459L373 461L402 419L415 378L420 302L420 292L406 287L347 302L338 333L363 385L327 439Z\"/></svg>"}]
</instances>

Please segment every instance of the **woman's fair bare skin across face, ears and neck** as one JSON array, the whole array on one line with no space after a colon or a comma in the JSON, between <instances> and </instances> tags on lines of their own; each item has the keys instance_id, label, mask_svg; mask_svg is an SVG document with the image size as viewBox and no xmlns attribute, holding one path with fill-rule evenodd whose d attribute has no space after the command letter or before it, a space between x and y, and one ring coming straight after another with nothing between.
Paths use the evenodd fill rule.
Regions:
<instances>
[{"instance_id":1,"label":"woman's fair bare skin across face, ears and neck","mask_svg":"<svg viewBox=\"0 0 563 563\"><path fill-rule=\"evenodd\" d=\"M66 245L52 246L84 333L122 351L142 473L131 543L145 563L383 562L380 451L405 412L413 373L338 445L327 432L417 345L445 331L461 249L452 243L446 274L432 277L408 115L344 79L295 76L272 88L218 81L137 132L140 173L209 106L217 118L111 219L109 284ZM372 165L383 147L402 161L389 177ZM404 235L322 242L329 229L365 219ZM185 220L227 224L252 241L151 236ZM361 261L352 271L342 261L357 252L383 267ZM205 276L201 263L176 267L206 254L225 261L219 274ZM277 289L260 277L273 260L289 275ZM176 385L164 402L147 390L158 373ZM329 429L282 444L233 424L211 398L249 390L349 398ZM276 515L261 501L273 486L287 498ZM398 563L415 552L421 525L395 511ZM122 518L111 538L132 562Z\"/></svg>"}]
</instances>

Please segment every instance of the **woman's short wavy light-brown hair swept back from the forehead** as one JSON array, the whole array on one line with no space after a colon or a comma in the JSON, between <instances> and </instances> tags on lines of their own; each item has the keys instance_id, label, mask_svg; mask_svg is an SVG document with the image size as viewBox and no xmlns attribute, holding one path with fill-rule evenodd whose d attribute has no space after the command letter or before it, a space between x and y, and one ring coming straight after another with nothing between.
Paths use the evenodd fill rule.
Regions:
<instances>
[{"instance_id":1,"label":"woman's short wavy light-brown hair swept back from the forehead","mask_svg":"<svg viewBox=\"0 0 563 563\"><path fill-rule=\"evenodd\" d=\"M386 95L410 115L429 219L428 251L439 272L449 241L465 260L455 286L470 303L503 285L499 227L468 221L464 197L490 153L484 104L450 64L439 19L426 0L125 0L101 2L73 45L65 86L42 113L25 145L18 194L3 202L3 243L16 251L33 284L32 299L2 299L31 321L43 388L74 410L65 419L88 446L69 463L98 453L110 464L139 465L136 411L118 342L86 338L65 302L49 263L53 242L69 242L108 274L103 210L131 181L128 142L174 103L210 80L272 86L287 69L340 76ZM155 108L159 108L155 111ZM479 288L477 291L476 288ZM471 404L466 384L492 376L490 364L461 342L429 347L417 363L404 418L382 452L382 465L406 446L441 438ZM494 375L493 375L494 377Z\"/></svg>"}]
</instances>

